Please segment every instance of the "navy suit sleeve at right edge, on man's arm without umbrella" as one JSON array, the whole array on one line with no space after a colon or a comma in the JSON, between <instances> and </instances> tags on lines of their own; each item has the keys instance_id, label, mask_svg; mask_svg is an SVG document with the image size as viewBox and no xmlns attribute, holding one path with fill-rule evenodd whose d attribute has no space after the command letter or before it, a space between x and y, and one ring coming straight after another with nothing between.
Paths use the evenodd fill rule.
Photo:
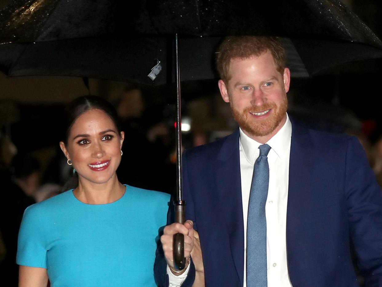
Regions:
<instances>
[{"instance_id":1,"label":"navy suit sleeve at right edge, on man's arm without umbrella","mask_svg":"<svg viewBox=\"0 0 382 287\"><path fill-rule=\"evenodd\" d=\"M365 285L382 286L382 191L356 138L346 150L346 204Z\"/></svg>"}]
</instances>

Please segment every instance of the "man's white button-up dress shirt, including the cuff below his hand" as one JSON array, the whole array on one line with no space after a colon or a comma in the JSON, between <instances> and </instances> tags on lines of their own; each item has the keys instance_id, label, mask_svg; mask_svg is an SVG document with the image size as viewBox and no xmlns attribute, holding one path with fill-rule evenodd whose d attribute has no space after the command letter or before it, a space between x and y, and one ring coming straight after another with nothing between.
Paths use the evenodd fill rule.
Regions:
<instances>
[{"instance_id":1,"label":"man's white button-up dress shirt, including the cuff below his hand","mask_svg":"<svg viewBox=\"0 0 382 287\"><path fill-rule=\"evenodd\" d=\"M268 287L291 287L286 261L286 206L288 202L289 156L292 125L288 115L282 128L267 144L269 186L265 217L267 221L267 278ZM259 157L261 143L249 138L240 129L240 176L241 198L244 219L244 287L246 287L246 234L249 192L254 163ZM179 287L186 279L189 267L180 276L175 276L167 267L170 287Z\"/></svg>"}]
</instances>

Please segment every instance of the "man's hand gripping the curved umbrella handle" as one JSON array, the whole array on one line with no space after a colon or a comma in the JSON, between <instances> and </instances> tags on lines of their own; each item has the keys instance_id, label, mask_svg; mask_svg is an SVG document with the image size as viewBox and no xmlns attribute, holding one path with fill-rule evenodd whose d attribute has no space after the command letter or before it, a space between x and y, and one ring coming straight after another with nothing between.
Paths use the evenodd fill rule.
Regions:
<instances>
[{"instance_id":1,"label":"man's hand gripping the curved umbrella handle","mask_svg":"<svg viewBox=\"0 0 382 287\"><path fill-rule=\"evenodd\" d=\"M162 242L163 252L170 270L175 275L182 274L183 272L173 272L174 269L174 259L173 259L173 235L175 233L182 233L185 236L185 258L186 262L189 261L191 251L194 247L194 228L193 222L191 220L186 220L184 224L172 223L167 225L163 230L163 235L160 236L160 242Z\"/></svg>"}]
</instances>

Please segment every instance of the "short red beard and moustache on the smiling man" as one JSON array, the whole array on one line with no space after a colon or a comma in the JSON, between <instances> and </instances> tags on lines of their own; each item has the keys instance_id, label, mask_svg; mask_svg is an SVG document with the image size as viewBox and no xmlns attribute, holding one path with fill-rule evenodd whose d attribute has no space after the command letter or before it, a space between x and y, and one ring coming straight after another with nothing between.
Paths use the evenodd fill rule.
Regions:
<instances>
[{"instance_id":1,"label":"short red beard and moustache on the smiling man","mask_svg":"<svg viewBox=\"0 0 382 287\"><path fill-rule=\"evenodd\" d=\"M280 106L277 106L274 102L266 103L261 107L248 107L240 112L231 105L231 112L235 121L239 124L242 130L245 130L249 134L255 137L263 137L273 132L276 127L285 119L286 109L288 108L288 100L286 95ZM253 119L249 113L259 113L271 109L270 116L266 119Z\"/></svg>"}]
</instances>

